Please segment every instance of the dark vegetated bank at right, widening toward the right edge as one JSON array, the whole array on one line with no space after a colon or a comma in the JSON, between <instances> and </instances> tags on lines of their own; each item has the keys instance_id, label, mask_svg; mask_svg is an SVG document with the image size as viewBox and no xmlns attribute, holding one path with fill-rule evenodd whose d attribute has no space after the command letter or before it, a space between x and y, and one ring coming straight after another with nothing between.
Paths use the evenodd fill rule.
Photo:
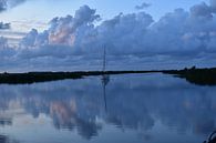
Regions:
<instances>
[{"instance_id":1,"label":"dark vegetated bank at right, widening toward the right edge","mask_svg":"<svg viewBox=\"0 0 216 143\"><path fill-rule=\"evenodd\" d=\"M163 71L163 73L174 74L197 85L216 85L216 68L196 69L193 67L192 69Z\"/></svg>"}]
</instances>

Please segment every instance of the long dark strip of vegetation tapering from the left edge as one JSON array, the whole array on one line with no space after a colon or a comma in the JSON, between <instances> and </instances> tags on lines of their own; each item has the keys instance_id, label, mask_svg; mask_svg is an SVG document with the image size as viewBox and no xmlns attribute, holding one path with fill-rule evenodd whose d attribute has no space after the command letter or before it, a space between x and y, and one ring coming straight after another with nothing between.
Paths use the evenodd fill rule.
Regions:
<instances>
[{"instance_id":1,"label":"long dark strip of vegetation tapering from the left edge","mask_svg":"<svg viewBox=\"0 0 216 143\"><path fill-rule=\"evenodd\" d=\"M89 71L89 72L29 72L0 73L0 84L31 84L35 82L56 81L65 79L82 79L91 75L147 73L150 71ZM154 72L154 71L152 71Z\"/></svg>"}]
</instances>

